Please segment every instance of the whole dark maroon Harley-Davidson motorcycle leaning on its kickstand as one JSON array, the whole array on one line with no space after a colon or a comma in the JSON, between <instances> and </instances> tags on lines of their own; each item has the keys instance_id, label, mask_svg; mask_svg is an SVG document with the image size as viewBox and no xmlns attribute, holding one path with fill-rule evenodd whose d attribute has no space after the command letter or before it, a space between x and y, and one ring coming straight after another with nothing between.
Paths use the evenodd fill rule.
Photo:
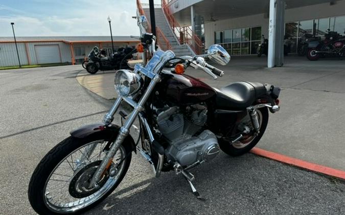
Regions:
<instances>
[{"instance_id":1,"label":"whole dark maroon Harley-Davidson motorcycle leaning on its kickstand","mask_svg":"<svg viewBox=\"0 0 345 215\"><path fill-rule=\"evenodd\" d=\"M185 177L200 198L190 169L211 162L220 150L234 156L248 152L263 136L268 112L280 110L279 87L237 82L215 89L185 74L191 67L214 79L223 76L205 62L229 62L220 45L210 46L205 55L177 58L171 50L155 50L154 37L150 43L152 58L146 65L115 74L119 97L103 122L71 131L36 167L28 195L37 213L79 213L94 207L125 177L132 152L147 160L155 177L167 171ZM122 102L132 111L119 111L121 124L112 124ZM131 129L139 131L136 141Z\"/></svg>"}]
</instances>

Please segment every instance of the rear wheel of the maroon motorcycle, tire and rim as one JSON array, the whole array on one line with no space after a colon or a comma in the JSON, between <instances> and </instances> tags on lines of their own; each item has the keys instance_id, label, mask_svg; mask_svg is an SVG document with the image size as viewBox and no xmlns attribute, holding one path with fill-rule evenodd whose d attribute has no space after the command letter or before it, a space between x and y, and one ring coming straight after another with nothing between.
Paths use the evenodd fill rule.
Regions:
<instances>
[{"instance_id":1,"label":"rear wheel of the maroon motorcycle, tire and rim","mask_svg":"<svg viewBox=\"0 0 345 215\"><path fill-rule=\"evenodd\" d=\"M228 141L224 141L220 139L219 140L220 149L228 155L240 156L242 154L247 153L248 151L250 151L250 149L252 149L255 145L257 145L257 143L262 138L267 127L267 123L268 123L267 108L263 107L261 109L257 109L257 115L258 115L258 120L259 120L259 125L260 125L260 132L257 136L248 135L247 137L244 137L243 139L235 143L230 143ZM251 123L249 116L246 116L246 118L244 118L244 121L246 121L246 124Z\"/></svg>"}]
</instances>

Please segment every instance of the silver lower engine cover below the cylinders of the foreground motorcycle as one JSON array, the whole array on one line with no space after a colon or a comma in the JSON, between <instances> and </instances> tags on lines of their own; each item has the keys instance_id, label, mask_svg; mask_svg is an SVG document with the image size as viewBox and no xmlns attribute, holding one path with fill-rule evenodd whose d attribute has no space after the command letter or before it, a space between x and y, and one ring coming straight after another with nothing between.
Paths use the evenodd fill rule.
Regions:
<instances>
[{"instance_id":1,"label":"silver lower engine cover below the cylinders of the foreground motorcycle","mask_svg":"<svg viewBox=\"0 0 345 215\"><path fill-rule=\"evenodd\" d=\"M181 166L189 166L213 159L219 153L219 145L214 133L204 130L197 137L172 143L167 152Z\"/></svg>"}]
</instances>

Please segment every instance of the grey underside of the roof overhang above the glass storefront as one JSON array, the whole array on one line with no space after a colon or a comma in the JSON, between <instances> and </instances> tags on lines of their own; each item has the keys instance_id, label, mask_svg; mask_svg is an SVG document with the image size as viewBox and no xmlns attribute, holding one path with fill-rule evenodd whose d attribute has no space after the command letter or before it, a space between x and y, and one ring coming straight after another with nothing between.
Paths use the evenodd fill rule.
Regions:
<instances>
[{"instance_id":1,"label":"grey underside of the roof overhang above the glass storefront","mask_svg":"<svg viewBox=\"0 0 345 215\"><path fill-rule=\"evenodd\" d=\"M171 7L176 7L174 4L178 4L179 1L172 2ZM285 0L286 9L323 3L335 3L336 1L339 0ZM268 13L269 0L203 0L194 4L194 10L198 15L203 16L205 23L207 23L211 22L211 17L214 20L224 20ZM182 26L190 25L190 7L174 13L174 17Z\"/></svg>"}]
</instances>

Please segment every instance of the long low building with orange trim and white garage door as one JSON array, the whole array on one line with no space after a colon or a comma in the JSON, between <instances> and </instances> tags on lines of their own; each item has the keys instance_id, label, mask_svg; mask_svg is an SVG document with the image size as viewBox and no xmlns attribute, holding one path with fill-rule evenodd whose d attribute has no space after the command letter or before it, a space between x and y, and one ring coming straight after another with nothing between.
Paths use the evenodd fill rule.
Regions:
<instances>
[{"instance_id":1,"label":"long low building with orange trim and white garage door","mask_svg":"<svg viewBox=\"0 0 345 215\"><path fill-rule=\"evenodd\" d=\"M21 65L82 63L95 46L111 53L109 36L16 37ZM127 36L113 36L114 49L135 46L139 41ZM0 37L0 67L18 65L13 37Z\"/></svg>"}]
</instances>

